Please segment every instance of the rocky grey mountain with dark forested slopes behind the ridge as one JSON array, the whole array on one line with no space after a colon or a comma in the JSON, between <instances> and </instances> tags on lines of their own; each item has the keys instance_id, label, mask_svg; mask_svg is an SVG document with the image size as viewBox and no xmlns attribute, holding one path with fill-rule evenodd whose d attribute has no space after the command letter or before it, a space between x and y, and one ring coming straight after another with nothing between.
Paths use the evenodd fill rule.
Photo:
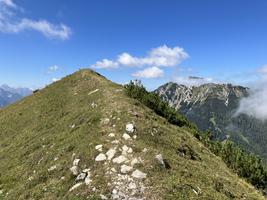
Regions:
<instances>
[{"instance_id":1,"label":"rocky grey mountain with dark forested slopes behind the ridge","mask_svg":"<svg viewBox=\"0 0 267 200\"><path fill-rule=\"evenodd\" d=\"M211 130L215 139L231 139L267 160L267 122L235 115L249 88L213 83L188 87L170 82L155 92L201 130Z\"/></svg>"}]
</instances>

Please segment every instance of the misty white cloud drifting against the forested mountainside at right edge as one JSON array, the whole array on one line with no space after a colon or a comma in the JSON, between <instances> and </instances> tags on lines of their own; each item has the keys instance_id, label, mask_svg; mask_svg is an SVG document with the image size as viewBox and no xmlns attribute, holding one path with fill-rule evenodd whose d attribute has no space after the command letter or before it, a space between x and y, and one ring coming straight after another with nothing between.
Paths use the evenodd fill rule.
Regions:
<instances>
[{"instance_id":1,"label":"misty white cloud drifting against the forested mountainside at right edge","mask_svg":"<svg viewBox=\"0 0 267 200\"><path fill-rule=\"evenodd\" d=\"M240 101L236 115L244 113L267 120L267 65L258 70L260 80L251 86L249 96Z\"/></svg>"}]
</instances>

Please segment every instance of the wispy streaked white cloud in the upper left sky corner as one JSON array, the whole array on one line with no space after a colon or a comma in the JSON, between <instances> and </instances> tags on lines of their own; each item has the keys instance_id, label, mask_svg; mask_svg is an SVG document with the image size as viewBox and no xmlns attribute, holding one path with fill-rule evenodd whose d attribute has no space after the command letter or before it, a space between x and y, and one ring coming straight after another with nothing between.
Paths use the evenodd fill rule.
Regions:
<instances>
[{"instance_id":1,"label":"wispy streaked white cloud in the upper left sky corner","mask_svg":"<svg viewBox=\"0 0 267 200\"><path fill-rule=\"evenodd\" d=\"M52 24L46 20L32 20L17 17L19 8L12 0L0 0L0 32L19 33L35 30L47 38L68 39L71 29L64 24Z\"/></svg>"}]
</instances>

